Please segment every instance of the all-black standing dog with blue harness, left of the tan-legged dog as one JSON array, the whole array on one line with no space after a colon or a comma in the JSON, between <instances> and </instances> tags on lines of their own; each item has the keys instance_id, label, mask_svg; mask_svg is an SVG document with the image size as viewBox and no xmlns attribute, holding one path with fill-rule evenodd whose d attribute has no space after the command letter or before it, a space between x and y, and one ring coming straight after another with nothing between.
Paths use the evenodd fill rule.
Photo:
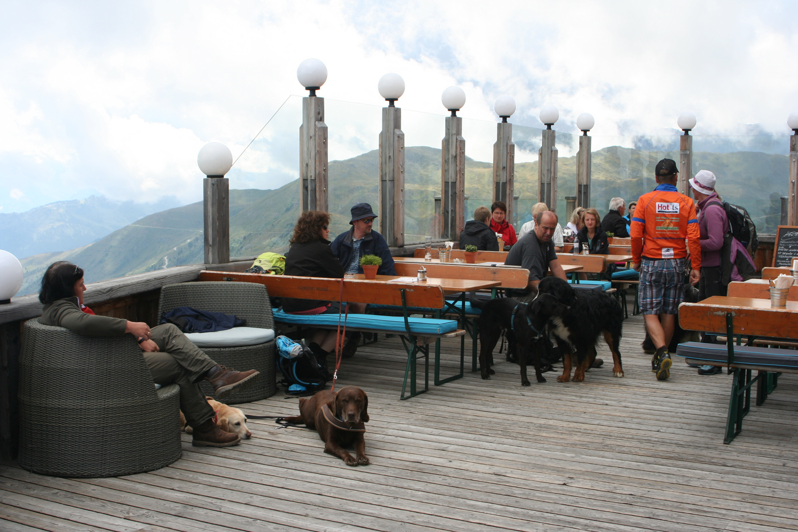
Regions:
<instances>
[{"instance_id":1,"label":"all-black standing dog with blue harness, left of the tan-legged dog","mask_svg":"<svg viewBox=\"0 0 798 532\"><path fill-rule=\"evenodd\" d=\"M491 378L493 348L499 341L502 331L508 339L508 345L515 346L518 363L521 367L521 384L529 386L527 378L527 359L535 365L535 378L538 382L546 382L541 371L541 352L548 344L544 336L547 321L552 316L567 312L567 304L551 294L535 298L531 303L521 303L512 298L499 298L490 301L472 299L472 305L482 310L477 319L480 331L480 370L483 379Z\"/></svg>"}]
</instances>

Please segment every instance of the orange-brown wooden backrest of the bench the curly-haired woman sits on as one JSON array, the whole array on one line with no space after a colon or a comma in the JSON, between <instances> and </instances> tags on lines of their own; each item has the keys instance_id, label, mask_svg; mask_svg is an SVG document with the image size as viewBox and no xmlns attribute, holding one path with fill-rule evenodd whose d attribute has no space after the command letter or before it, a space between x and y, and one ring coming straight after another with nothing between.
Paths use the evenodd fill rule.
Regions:
<instances>
[{"instance_id":1,"label":"orange-brown wooden backrest of the bench the curly-haired woman sits on","mask_svg":"<svg viewBox=\"0 0 798 532\"><path fill-rule=\"evenodd\" d=\"M199 272L199 281L256 282L266 286L272 298L319 299L322 301L342 299L352 303L397 306L401 306L401 291L405 290L405 301L408 306L440 309L444 305L444 293L440 286L414 282L238 274L207 270ZM341 293L342 283L343 294Z\"/></svg>"}]
</instances>

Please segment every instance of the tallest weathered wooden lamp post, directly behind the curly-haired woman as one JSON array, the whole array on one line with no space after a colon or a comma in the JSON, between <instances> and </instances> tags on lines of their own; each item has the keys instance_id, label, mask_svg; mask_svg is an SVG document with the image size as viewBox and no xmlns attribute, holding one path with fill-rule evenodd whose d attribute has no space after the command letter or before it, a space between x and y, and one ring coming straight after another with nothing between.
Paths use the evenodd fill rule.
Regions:
<instances>
[{"instance_id":1,"label":"tallest weathered wooden lamp post, directly behind the curly-haired woman","mask_svg":"<svg viewBox=\"0 0 798 532\"><path fill-rule=\"evenodd\" d=\"M324 98L302 98L299 128L299 195L305 211L327 211L327 125Z\"/></svg>"}]
</instances>

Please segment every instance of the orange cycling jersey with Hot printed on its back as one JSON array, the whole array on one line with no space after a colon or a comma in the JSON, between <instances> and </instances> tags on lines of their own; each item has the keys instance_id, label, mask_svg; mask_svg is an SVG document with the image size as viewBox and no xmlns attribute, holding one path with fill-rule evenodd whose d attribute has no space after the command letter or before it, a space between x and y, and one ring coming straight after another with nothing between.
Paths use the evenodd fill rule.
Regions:
<instances>
[{"instance_id":1,"label":"orange cycling jersey with Hot printed on its back","mask_svg":"<svg viewBox=\"0 0 798 532\"><path fill-rule=\"evenodd\" d=\"M632 259L685 258L701 269L701 232L692 199L663 183L640 196L631 219ZM687 246L685 246L685 238ZM645 241L645 245L644 245Z\"/></svg>"}]
</instances>

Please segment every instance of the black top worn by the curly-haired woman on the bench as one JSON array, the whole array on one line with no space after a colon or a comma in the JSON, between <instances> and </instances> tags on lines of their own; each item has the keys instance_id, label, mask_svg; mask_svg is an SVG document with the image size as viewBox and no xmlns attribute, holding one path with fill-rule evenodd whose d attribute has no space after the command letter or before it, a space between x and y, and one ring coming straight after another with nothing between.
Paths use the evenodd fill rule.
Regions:
<instances>
[{"instance_id":1,"label":"black top worn by the curly-haired woman on the bench","mask_svg":"<svg viewBox=\"0 0 798 532\"><path fill-rule=\"evenodd\" d=\"M304 277L343 278L344 269L330 249L329 240L296 243L286 253L286 275ZM286 312L300 312L327 305L330 301L314 299L283 298L282 309Z\"/></svg>"}]
</instances>

